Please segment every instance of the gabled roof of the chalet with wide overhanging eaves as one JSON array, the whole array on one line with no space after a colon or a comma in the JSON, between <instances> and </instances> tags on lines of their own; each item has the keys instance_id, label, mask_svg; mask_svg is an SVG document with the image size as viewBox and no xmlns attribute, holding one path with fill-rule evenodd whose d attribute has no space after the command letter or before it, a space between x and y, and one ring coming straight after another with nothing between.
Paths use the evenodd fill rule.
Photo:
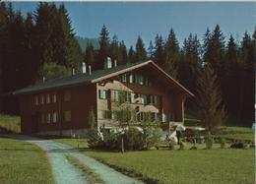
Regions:
<instances>
[{"instance_id":1,"label":"gabled roof of the chalet with wide overhanging eaves","mask_svg":"<svg viewBox=\"0 0 256 184\"><path fill-rule=\"evenodd\" d=\"M60 88L66 88L66 87L74 87L74 86L85 85L90 83L91 84L97 83L102 80L123 74L125 72L129 72L134 69L144 67L146 65L152 65L156 67L156 69L159 70L162 75L164 75L172 84L180 88L181 91L187 93L190 96L194 96L192 92L189 92L182 85L180 85L178 82L172 79L162 69L160 69L160 67L157 64L155 64L152 60L149 60L146 62L128 63L126 65L120 65L120 66L112 67L110 69L97 70L97 71L93 71L91 75L89 75L89 73L86 73L86 74L79 74L75 76L49 80L44 83L38 83L33 86L27 87L25 89L18 90L16 92L13 92L13 94L40 92L40 91L60 89Z\"/></svg>"}]
</instances>

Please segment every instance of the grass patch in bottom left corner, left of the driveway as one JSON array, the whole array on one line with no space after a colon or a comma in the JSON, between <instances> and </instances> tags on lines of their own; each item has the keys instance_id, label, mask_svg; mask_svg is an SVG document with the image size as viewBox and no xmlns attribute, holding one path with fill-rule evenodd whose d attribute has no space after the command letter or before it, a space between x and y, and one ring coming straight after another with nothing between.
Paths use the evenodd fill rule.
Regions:
<instances>
[{"instance_id":1,"label":"grass patch in bottom left corner, left of the driveway","mask_svg":"<svg viewBox=\"0 0 256 184\"><path fill-rule=\"evenodd\" d=\"M30 143L0 138L0 183L54 183L46 154Z\"/></svg>"}]
</instances>

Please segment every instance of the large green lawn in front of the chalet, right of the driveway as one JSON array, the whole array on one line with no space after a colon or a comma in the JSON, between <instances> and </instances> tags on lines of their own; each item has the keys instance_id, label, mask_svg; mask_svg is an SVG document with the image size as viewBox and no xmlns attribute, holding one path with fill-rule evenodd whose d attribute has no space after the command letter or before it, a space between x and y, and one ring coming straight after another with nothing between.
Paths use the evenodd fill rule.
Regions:
<instances>
[{"instance_id":1,"label":"large green lawn in front of the chalet, right of the driveway","mask_svg":"<svg viewBox=\"0 0 256 184\"><path fill-rule=\"evenodd\" d=\"M84 152L156 183L254 183L254 150Z\"/></svg>"}]
</instances>

